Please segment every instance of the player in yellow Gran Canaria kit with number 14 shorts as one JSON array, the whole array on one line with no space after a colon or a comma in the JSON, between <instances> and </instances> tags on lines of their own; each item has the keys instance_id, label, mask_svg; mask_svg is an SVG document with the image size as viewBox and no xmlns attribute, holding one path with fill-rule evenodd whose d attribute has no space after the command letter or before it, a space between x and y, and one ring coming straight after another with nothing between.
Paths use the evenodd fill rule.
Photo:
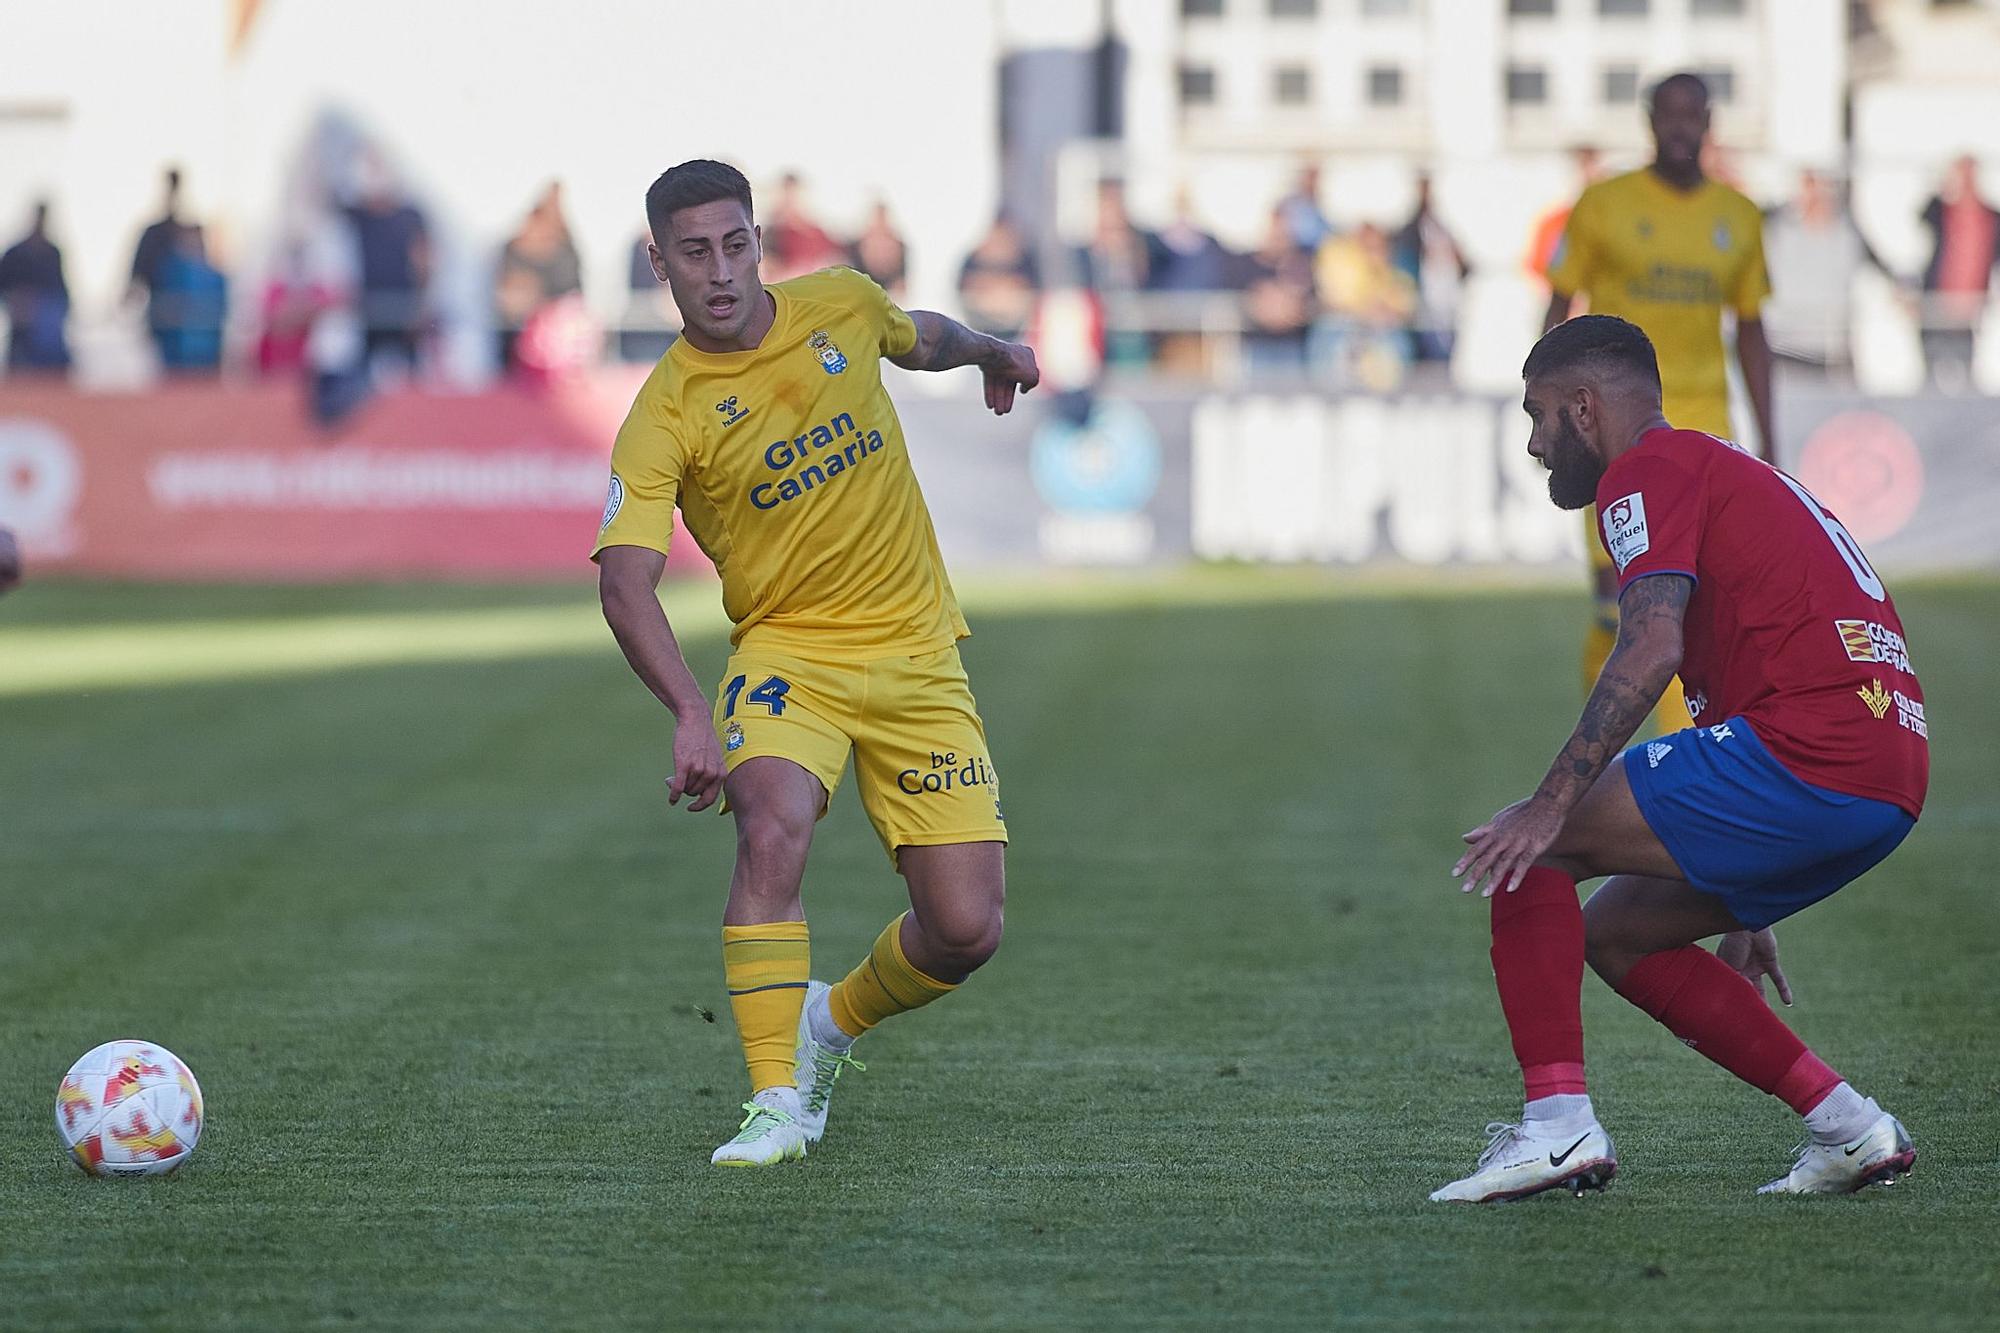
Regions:
<instances>
[{"instance_id":1,"label":"player in yellow Gran Canaria kit with number 14 shorts","mask_svg":"<svg viewBox=\"0 0 2000 1333\"><path fill-rule=\"evenodd\" d=\"M994 412L1040 374L1026 346L906 314L848 268L764 286L750 184L722 162L664 172L646 222L686 328L618 430L592 554L618 646L676 721L668 803L726 797L736 815L722 971L752 1097L712 1161L762 1167L820 1141L856 1037L948 995L1000 945L1000 779L882 362L978 366ZM736 624L712 707L658 598L676 506ZM824 987L800 883L850 753L910 911Z\"/></svg>"}]
</instances>

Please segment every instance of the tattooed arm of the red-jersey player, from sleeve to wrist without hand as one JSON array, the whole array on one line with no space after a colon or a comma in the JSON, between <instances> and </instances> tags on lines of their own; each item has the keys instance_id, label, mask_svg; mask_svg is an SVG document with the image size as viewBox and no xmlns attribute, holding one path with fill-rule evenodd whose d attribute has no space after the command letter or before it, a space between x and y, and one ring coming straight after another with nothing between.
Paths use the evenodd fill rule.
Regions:
<instances>
[{"instance_id":1,"label":"tattooed arm of the red-jersey player, from sleeve to wrist without hand","mask_svg":"<svg viewBox=\"0 0 2000 1333\"><path fill-rule=\"evenodd\" d=\"M1680 671L1682 620L1692 596L1694 580L1686 574L1650 574L1624 590L1618 598L1618 644L1536 797L1568 811L1632 741Z\"/></svg>"}]
</instances>

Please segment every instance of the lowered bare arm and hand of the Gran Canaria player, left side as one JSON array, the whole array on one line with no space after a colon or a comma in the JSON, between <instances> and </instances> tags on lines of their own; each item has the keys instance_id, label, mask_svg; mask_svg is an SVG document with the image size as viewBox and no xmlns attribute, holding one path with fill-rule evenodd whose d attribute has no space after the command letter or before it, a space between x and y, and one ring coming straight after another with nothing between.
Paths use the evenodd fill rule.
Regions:
<instances>
[{"instance_id":1,"label":"lowered bare arm and hand of the Gran Canaria player, left side","mask_svg":"<svg viewBox=\"0 0 2000 1333\"><path fill-rule=\"evenodd\" d=\"M708 695L688 671L660 606L666 556L646 546L606 546L598 552L598 600L604 622L646 689L674 715L674 777L666 803L692 797L688 811L706 811L722 795L722 745L708 725Z\"/></svg>"}]
</instances>

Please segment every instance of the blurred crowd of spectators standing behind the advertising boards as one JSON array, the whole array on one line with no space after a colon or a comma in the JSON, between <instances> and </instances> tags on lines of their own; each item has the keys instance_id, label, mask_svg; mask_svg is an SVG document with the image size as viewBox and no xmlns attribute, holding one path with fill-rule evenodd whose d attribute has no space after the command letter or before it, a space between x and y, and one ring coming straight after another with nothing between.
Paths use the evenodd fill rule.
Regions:
<instances>
[{"instance_id":1,"label":"blurred crowd of spectators standing behind the advertising boards","mask_svg":"<svg viewBox=\"0 0 2000 1333\"><path fill-rule=\"evenodd\" d=\"M1600 174L1596 154L1578 150L1576 170L1580 190ZM240 290L190 216L180 172L164 174L160 212L136 232L124 296L162 374L298 376L324 420L382 382L424 374L440 324L432 222L374 152L354 154L338 178L340 188L328 176L294 190L298 206L270 262L254 290ZM852 264L904 296L910 250L888 202L876 200L854 234L814 216L796 174L758 204L766 280ZM1554 206L1524 238L1530 272L1546 270L1564 218L1566 204ZM1844 370L1854 276L1872 268L1914 306L1932 382L1966 386L2000 262L2000 210L1970 158L1950 166L1922 222L1930 260L1894 274L1850 216L1842 186L1804 172L1792 198L1766 212L1772 348L1796 366ZM630 242L626 300L606 328L584 300L562 186L542 188L490 260L490 364L534 380L604 356L658 358L678 318L646 244L644 234ZM1148 226L1116 178L1098 182L1082 244L1002 212L958 266L958 300L972 326L1014 338L1034 336L1044 294L1084 292L1096 352L1112 370L1212 374L1218 348L1228 348L1242 374L1392 390L1452 358L1468 278L1472 264L1428 176L1408 214L1338 226L1308 164L1248 250L1204 228L1184 194ZM0 306L10 374L70 368L70 294L46 204L0 254Z\"/></svg>"}]
</instances>

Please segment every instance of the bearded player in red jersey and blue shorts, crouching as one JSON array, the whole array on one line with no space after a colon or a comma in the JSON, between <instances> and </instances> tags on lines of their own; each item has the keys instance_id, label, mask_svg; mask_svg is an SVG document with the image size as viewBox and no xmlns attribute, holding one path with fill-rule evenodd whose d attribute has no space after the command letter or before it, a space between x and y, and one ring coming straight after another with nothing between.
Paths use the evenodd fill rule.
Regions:
<instances>
[{"instance_id":1,"label":"bearded player in red jersey and blue shorts, crouching","mask_svg":"<svg viewBox=\"0 0 2000 1333\"><path fill-rule=\"evenodd\" d=\"M1588 314L1522 366L1528 452L1562 508L1596 500L1618 644L1548 777L1466 835L1454 875L1492 899L1492 965L1526 1083L1520 1125L1432 1199L1488 1203L1618 1169L1584 1085L1584 963L1806 1119L1760 1193L1850 1193L1916 1161L1764 1003L1792 1001L1770 927L1888 857L1930 777L1924 693L1882 578L1804 486L1676 430L1636 324ZM1624 749L1674 673L1694 727ZM1610 879L1578 907L1576 881ZM1720 935L1716 953L1698 941Z\"/></svg>"}]
</instances>

